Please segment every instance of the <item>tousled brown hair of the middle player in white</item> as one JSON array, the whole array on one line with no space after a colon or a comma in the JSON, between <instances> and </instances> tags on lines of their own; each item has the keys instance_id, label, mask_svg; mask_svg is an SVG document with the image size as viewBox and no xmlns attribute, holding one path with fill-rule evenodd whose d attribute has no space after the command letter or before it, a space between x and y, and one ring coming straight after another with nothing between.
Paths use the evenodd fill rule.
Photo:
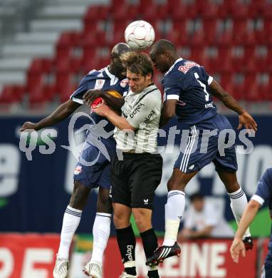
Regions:
<instances>
[{"instance_id":1,"label":"tousled brown hair of the middle player in white","mask_svg":"<svg viewBox=\"0 0 272 278\"><path fill-rule=\"evenodd\" d=\"M121 55L122 65L132 73L147 76L151 73L153 76L153 64L147 53L131 51Z\"/></svg>"}]
</instances>

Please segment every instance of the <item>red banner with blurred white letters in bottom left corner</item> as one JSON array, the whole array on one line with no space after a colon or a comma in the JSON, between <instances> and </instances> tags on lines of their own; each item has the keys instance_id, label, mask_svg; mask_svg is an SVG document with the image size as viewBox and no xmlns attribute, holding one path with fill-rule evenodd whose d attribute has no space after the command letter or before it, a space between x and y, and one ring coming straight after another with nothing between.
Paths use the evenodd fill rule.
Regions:
<instances>
[{"instance_id":1,"label":"red banner with blurred white letters in bottom left corner","mask_svg":"<svg viewBox=\"0 0 272 278\"><path fill-rule=\"evenodd\" d=\"M58 235L0 235L0 277L52 278Z\"/></svg>"}]
</instances>

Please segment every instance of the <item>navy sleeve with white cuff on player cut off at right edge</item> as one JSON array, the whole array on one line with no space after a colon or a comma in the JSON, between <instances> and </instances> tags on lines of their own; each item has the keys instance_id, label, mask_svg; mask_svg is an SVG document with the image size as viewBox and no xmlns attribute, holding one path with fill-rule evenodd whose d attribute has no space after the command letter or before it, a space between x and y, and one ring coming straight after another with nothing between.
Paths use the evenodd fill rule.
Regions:
<instances>
[{"instance_id":1,"label":"navy sleeve with white cuff on player cut off at right edge","mask_svg":"<svg viewBox=\"0 0 272 278\"><path fill-rule=\"evenodd\" d=\"M260 205L263 205L263 202L272 197L272 168L266 170L262 175L261 179L258 182L257 190L255 194L251 197L251 200L255 200Z\"/></svg>"}]
</instances>

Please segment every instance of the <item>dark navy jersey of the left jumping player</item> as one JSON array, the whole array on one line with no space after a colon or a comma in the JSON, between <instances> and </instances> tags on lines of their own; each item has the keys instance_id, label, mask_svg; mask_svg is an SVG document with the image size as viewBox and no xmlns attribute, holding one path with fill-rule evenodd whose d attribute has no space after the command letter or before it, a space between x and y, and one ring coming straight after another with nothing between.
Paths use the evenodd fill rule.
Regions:
<instances>
[{"instance_id":1,"label":"dark navy jersey of the left jumping player","mask_svg":"<svg viewBox=\"0 0 272 278\"><path fill-rule=\"evenodd\" d=\"M128 91L127 79L118 79L108 71L108 67L102 68L100 71L90 71L80 81L78 88L70 96L70 99L83 104L83 95L90 89L117 91L121 96L125 96ZM95 113L91 113L91 117L93 118L94 123L99 123L102 119L106 120L106 118ZM112 123L108 123L108 125L105 126L105 130L108 132L114 130L114 128L115 127Z\"/></svg>"}]
</instances>

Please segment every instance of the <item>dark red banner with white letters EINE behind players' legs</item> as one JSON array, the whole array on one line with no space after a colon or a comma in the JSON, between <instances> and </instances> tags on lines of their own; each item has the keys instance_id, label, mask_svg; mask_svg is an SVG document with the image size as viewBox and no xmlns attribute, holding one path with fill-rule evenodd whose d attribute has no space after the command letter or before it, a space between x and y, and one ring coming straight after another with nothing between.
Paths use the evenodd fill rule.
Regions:
<instances>
[{"instance_id":1,"label":"dark red banner with white letters EINE behind players' legs","mask_svg":"<svg viewBox=\"0 0 272 278\"><path fill-rule=\"evenodd\" d=\"M164 260L159 266L161 278L256 278L256 242L253 250L241 258L239 264L232 261L229 248L231 240L198 240L180 244L182 254ZM147 277L145 252L141 240L137 240L137 274ZM115 239L110 239L105 253L104 277L117 278L122 272L120 253Z\"/></svg>"}]
</instances>

